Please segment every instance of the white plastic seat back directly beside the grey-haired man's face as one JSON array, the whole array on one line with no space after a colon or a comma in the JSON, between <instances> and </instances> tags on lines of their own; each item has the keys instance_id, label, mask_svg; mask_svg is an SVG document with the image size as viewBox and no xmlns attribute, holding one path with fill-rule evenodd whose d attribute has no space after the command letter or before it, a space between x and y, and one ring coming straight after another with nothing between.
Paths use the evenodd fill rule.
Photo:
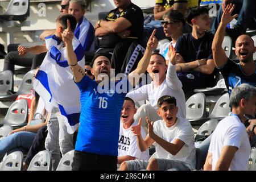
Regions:
<instances>
[{"instance_id":1,"label":"white plastic seat back directly beside the grey-haired man's face","mask_svg":"<svg viewBox=\"0 0 256 182\"><path fill-rule=\"evenodd\" d=\"M209 118L225 118L230 113L229 107L229 93L223 94L218 101L216 102L212 113L209 115Z\"/></svg>"}]
</instances>

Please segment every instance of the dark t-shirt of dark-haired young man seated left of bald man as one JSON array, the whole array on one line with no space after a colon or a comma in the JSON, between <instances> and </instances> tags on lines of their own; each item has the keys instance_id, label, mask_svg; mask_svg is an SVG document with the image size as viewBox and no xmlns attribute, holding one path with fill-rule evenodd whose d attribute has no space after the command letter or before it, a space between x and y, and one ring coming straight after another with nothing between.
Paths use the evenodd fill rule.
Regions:
<instances>
[{"instance_id":1,"label":"dark t-shirt of dark-haired young man seated left of bald man","mask_svg":"<svg viewBox=\"0 0 256 182\"><path fill-rule=\"evenodd\" d=\"M205 35L200 39L193 38L191 33L183 34L177 39L175 49L177 53L180 53L186 63L199 59L213 59L212 41L213 35L208 32L205 32ZM214 77L216 71L210 75L201 72L195 73L199 75L202 86L212 87L216 84L216 79Z\"/></svg>"}]
</instances>

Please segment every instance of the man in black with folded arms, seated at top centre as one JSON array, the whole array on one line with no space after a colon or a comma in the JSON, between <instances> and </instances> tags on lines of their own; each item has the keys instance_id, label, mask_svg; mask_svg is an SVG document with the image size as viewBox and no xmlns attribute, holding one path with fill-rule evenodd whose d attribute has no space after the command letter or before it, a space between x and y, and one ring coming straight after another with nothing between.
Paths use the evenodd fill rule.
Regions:
<instances>
[{"instance_id":1,"label":"man in black with folded arms, seated at top centre","mask_svg":"<svg viewBox=\"0 0 256 182\"><path fill-rule=\"evenodd\" d=\"M95 35L102 37L100 48L114 49L112 67L115 68L115 73L130 72L131 69L127 70L126 65L130 64L134 49L144 52L143 47L138 47L143 34L144 16L142 10L131 3L131 0L114 0L114 3L117 8L110 11L105 20L97 22ZM133 60L133 66L136 67L137 59Z\"/></svg>"}]
</instances>

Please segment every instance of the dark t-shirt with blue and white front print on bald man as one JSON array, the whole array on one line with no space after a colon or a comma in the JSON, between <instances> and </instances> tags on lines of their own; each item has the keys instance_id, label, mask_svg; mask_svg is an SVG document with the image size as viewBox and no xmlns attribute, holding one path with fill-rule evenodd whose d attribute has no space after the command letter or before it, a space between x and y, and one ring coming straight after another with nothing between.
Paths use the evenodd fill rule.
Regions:
<instances>
[{"instance_id":1,"label":"dark t-shirt with blue and white front print on bald man","mask_svg":"<svg viewBox=\"0 0 256 182\"><path fill-rule=\"evenodd\" d=\"M235 63L231 59L228 59L226 64L218 69L224 77L226 88L228 89L229 94L232 92L234 87L243 83L256 86L256 70L253 75L246 76L242 71L240 63Z\"/></svg>"}]
</instances>

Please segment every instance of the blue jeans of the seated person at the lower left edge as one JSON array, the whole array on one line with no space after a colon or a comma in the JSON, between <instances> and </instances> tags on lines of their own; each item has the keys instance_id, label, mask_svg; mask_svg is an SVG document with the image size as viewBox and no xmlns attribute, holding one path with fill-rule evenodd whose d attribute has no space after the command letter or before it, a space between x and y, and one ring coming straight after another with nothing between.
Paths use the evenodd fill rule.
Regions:
<instances>
[{"instance_id":1,"label":"blue jeans of the seated person at the lower left edge","mask_svg":"<svg viewBox=\"0 0 256 182\"><path fill-rule=\"evenodd\" d=\"M2 160L3 156L9 151L16 151L20 148L24 150L29 150L32 142L35 138L36 133L28 132L28 131L20 131L0 140L0 160Z\"/></svg>"}]
</instances>

